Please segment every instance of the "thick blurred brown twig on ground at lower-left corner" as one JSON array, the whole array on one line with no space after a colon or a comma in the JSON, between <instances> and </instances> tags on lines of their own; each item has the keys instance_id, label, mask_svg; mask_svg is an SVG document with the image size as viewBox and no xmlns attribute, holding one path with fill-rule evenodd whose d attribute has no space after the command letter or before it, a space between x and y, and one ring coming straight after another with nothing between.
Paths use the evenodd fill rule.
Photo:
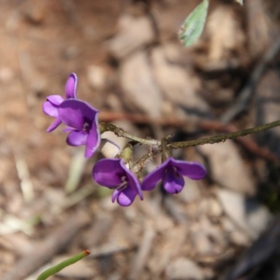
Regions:
<instances>
[{"instance_id":1,"label":"thick blurred brown twig on ground at lower-left corner","mask_svg":"<svg viewBox=\"0 0 280 280\"><path fill-rule=\"evenodd\" d=\"M90 223L85 211L73 214L66 223L62 224L45 240L34 244L34 248L18 260L9 272L1 276L1 280L22 280L36 269L48 262L52 256L62 251L73 237Z\"/></svg>"}]
</instances>

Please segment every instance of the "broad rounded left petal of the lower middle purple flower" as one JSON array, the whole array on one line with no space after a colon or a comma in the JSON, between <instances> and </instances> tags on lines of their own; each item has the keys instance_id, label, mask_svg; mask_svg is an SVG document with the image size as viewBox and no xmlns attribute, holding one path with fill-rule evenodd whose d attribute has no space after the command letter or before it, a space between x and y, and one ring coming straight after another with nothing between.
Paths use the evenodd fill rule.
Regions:
<instances>
[{"instance_id":1,"label":"broad rounded left petal of the lower middle purple flower","mask_svg":"<svg viewBox=\"0 0 280 280\"><path fill-rule=\"evenodd\" d=\"M117 188L123 183L123 176L126 176L118 158L99 160L93 169L92 176L94 181L107 188Z\"/></svg>"}]
</instances>

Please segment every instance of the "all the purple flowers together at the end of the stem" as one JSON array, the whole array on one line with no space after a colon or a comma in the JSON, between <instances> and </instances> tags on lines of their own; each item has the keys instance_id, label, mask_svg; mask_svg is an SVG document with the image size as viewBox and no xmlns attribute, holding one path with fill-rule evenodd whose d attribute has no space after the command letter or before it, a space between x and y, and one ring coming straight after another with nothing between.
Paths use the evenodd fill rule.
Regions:
<instances>
[{"instance_id":1,"label":"all the purple flowers together at the end of the stem","mask_svg":"<svg viewBox=\"0 0 280 280\"><path fill-rule=\"evenodd\" d=\"M76 97L78 77L71 73L65 87L65 97L50 95L43 103L43 112L55 120L48 127L52 132L61 123L66 125L64 132L69 132L66 143L70 146L85 145L85 158L90 158L100 144L100 131L97 109ZM103 159L94 165L92 176L101 186L113 189L112 202L117 201L127 207L137 195L143 200L143 190L153 190L159 181L169 194L180 193L185 185L183 176L193 180L203 179L207 174L198 162L174 160L167 157L162 164L148 174L140 183L129 168L130 162L124 158Z\"/></svg>"}]
</instances>

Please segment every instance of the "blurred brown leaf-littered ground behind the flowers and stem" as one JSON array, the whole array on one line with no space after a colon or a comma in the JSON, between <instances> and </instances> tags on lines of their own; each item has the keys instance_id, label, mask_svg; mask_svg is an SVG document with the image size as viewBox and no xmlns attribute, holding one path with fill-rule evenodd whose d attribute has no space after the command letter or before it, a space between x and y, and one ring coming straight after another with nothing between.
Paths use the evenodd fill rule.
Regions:
<instances>
[{"instance_id":1,"label":"blurred brown leaf-littered ground behind the flowers and stem","mask_svg":"<svg viewBox=\"0 0 280 280\"><path fill-rule=\"evenodd\" d=\"M210 2L202 37L183 48L177 34L198 0L0 1L2 280L36 279L85 248L52 279L280 279L279 128L174 151L207 179L174 196L158 186L127 208L92 181L101 154L85 161L61 129L45 132L41 106L64 96L71 72L100 120L141 137L279 120L279 0Z\"/></svg>"}]
</instances>

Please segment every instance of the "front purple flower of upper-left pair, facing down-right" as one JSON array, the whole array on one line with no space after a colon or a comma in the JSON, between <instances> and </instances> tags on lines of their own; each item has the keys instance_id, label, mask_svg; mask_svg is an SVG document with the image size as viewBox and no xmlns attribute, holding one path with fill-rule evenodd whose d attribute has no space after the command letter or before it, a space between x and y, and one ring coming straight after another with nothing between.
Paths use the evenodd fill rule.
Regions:
<instances>
[{"instance_id":1,"label":"front purple flower of upper-left pair, facing down-right","mask_svg":"<svg viewBox=\"0 0 280 280\"><path fill-rule=\"evenodd\" d=\"M85 145L85 158L90 158L100 144L98 111L87 102L71 98L59 105L58 118L68 126L64 129L64 132L70 132L67 144Z\"/></svg>"}]
</instances>

